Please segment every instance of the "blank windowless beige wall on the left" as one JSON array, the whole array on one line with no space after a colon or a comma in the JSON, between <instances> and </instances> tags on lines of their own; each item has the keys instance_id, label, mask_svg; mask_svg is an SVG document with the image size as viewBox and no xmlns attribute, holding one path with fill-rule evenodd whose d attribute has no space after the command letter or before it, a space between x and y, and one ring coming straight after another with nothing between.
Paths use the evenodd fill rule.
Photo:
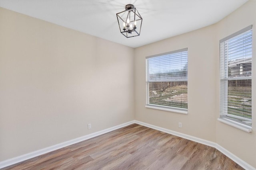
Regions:
<instances>
[{"instance_id":1,"label":"blank windowless beige wall on the left","mask_svg":"<svg viewBox=\"0 0 256 170\"><path fill-rule=\"evenodd\" d=\"M0 161L134 120L133 76L134 49L0 8Z\"/></svg>"}]
</instances>

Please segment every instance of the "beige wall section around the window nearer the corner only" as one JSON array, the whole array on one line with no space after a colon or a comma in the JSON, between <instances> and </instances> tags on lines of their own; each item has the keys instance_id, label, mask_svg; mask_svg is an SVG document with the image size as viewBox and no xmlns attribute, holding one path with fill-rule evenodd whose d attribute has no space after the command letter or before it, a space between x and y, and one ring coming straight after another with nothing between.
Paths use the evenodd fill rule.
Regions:
<instances>
[{"instance_id":1,"label":"beige wall section around the window nearer the corner only","mask_svg":"<svg viewBox=\"0 0 256 170\"><path fill-rule=\"evenodd\" d=\"M205 27L135 50L135 119L209 141L215 141L216 36ZM188 115L145 108L145 57L188 48ZM182 122L182 128L178 128Z\"/></svg>"}]
</instances>

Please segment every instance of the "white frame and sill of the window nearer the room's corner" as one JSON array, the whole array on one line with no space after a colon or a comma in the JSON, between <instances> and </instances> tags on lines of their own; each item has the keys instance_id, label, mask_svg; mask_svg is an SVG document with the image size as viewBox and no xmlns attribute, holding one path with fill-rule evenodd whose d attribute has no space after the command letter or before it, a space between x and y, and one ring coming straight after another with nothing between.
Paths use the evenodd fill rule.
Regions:
<instances>
[{"instance_id":1,"label":"white frame and sill of the window nearer the room's corner","mask_svg":"<svg viewBox=\"0 0 256 170\"><path fill-rule=\"evenodd\" d=\"M180 108L180 107L171 107L171 106L164 106L164 105L157 105L157 104L149 104L149 98L150 98L149 83L150 82L148 81L148 71L149 71L148 70L149 69L148 68L148 59L156 58L156 57L163 57L165 55L174 55L174 54L182 53L182 52L187 53L187 63L188 63L188 48L179 49L179 50L170 51L170 52L167 52L167 53L162 53L162 54L152 55L152 56L146 57L146 105L145 105L146 108L170 111L170 112L175 112L175 113L188 114L188 107L185 109L185 108ZM186 75L187 75L186 81L184 81L184 80L182 80L182 81L187 82L187 84L188 84L188 68L187 68L186 71L187 71L186 72ZM156 81L156 82L159 82L159 81ZM162 82L164 82L164 81L162 81ZM170 82L175 82L175 81L170 81ZM177 82L177 80L176 80L176 82ZM186 90L188 91L188 85L187 85Z\"/></svg>"}]
</instances>

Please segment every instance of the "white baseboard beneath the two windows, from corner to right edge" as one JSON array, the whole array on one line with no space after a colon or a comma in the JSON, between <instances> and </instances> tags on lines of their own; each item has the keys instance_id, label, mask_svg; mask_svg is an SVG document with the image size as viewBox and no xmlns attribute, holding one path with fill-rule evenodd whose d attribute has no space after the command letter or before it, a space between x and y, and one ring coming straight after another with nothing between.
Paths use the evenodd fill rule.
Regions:
<instances>
[{"instance_id":1,"label":"white baseboard beneath the two windows, from corner to right edge","mask_svg":"<svg viewBox=\"0 0 256 170\"><path fill-rule=\"evenodd\" d=\"M134 123L142 125L142 126L150 127L152 129L156 129L158 131L162 131L162 132L165 132L165 133L168 133L168 134L171 134L171 135L182 137L182 138L188 139L190 141L194 141L194 142L201 143L201 144L204 144L204 145L207 145L207 146L210 146L210 147L214 147L217 150L219 150L220 152L222 152L224 155L226 155L228 158L230 158L231 160L233 160L234 162L236 162L237 164L242 166L242 168L244 168L246 170L256 170L253 166L246 163L244 160L238 158L236 155L234 155L230 151L226 150L222 146L218 145L217 143L207 141L207 140L204 140L204 139L200 139L200 138L197 138L197 137L193 137L193 136L190 136L190 135L186 135L184 133L179 133L179 132L176 132L176 131L165 129L165 128L162 128L162 127L158 127L158 126L155 126L155 125L150 125L148 123L144 123L144 122L141 122L141 121L134 121Z\"/></svg>"}]
</instances>

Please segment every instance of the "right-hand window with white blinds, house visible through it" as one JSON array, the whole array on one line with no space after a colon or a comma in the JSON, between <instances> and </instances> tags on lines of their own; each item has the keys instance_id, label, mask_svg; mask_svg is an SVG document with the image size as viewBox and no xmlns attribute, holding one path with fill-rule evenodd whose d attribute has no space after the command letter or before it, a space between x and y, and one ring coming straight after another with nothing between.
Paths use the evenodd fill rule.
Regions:
<instances>
[{"instance_id":1,"label":"right-hand window with white blinds, house visible through it","mask_svg":"<svg viewBox=\"0 0 256 170\"><path fill-rule=\"evenodd\" d=\"M220 118L252 125L252 25L220 40Z\"/></svg>"}]
</instances>

